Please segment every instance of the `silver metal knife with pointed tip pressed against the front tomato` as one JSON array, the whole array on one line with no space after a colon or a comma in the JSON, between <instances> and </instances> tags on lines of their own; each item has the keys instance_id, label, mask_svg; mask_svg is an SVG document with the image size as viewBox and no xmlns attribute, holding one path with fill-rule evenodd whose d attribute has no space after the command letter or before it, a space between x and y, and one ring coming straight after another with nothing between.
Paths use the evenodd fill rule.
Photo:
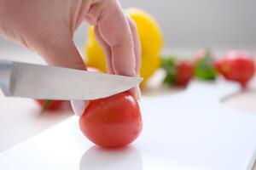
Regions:
<instances>
[{"instance_id":1,"label":"silver metal knife with pointed tip pressed against the front tomato","mask_svg":"<svg viewBox=\"0 0 256 170\"><path fill-rule=\"evenodd\" d=\"M101 99L133 88L142 80L140 77L0 60L0 87L9 97Z\"/></svg>"}]
</instances>

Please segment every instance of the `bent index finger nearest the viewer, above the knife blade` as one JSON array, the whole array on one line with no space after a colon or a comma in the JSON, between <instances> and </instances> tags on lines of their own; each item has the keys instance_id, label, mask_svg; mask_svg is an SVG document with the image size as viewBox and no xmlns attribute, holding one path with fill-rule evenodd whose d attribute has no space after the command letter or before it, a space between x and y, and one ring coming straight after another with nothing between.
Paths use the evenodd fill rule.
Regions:
<instances>
[{"instance_id":1,"label":"bent index finger nearest the viewer, above the knife blade","mask_svg":"<svg viewBox=\"0 0 256 170\"><path fill-rule=\"evenodd\" d=\"M95 26L102 40L111 50L111 64L115 74L136 76L136 58L131 28L118 1L104 0L102 6L91 7L91 17L97 16Z\"/></svg>"}]
</instances>

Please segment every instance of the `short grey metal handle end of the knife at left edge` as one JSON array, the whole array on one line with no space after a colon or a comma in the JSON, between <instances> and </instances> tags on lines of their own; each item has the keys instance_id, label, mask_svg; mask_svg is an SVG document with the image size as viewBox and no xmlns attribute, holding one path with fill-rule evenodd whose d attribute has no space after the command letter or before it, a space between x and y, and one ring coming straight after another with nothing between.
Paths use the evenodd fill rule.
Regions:
<instances>
[{"instance_id":1,"label":"short grey metal handle end of the knife at left edge","mask_svg":"<svg viewBox=\"0 0 256 170\"><path fill-rule=\"evenodd\" d=\"M0 87L3 90L3 94L8 96L11 92L11 73L14 62L0 60Z\"/></svg>"}]
</instances>

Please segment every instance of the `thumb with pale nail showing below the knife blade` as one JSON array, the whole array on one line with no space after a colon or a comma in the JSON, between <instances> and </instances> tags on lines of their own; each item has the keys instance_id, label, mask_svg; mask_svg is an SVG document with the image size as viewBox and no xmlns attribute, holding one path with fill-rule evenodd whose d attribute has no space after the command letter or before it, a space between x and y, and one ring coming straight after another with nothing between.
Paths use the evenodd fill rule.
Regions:
<instances>
[{"instance_id":1,"label":"thumb with pale nail showing below the knife blade","mask_svg":"<svg viewBox=\"0 0 256 170\"><path fill-rule=\"evenodd\" d=\"M36 48L36 51L38 54L42 55L47 64L86 70L83 59L73 42L73 37L64 36L56 37L54 39L50 39L49 37L39 39L38 41L39 45ZM71 105L74 113L81 116L83 115L88 102L72 100Z\"/></svg>"}]
</instances>

